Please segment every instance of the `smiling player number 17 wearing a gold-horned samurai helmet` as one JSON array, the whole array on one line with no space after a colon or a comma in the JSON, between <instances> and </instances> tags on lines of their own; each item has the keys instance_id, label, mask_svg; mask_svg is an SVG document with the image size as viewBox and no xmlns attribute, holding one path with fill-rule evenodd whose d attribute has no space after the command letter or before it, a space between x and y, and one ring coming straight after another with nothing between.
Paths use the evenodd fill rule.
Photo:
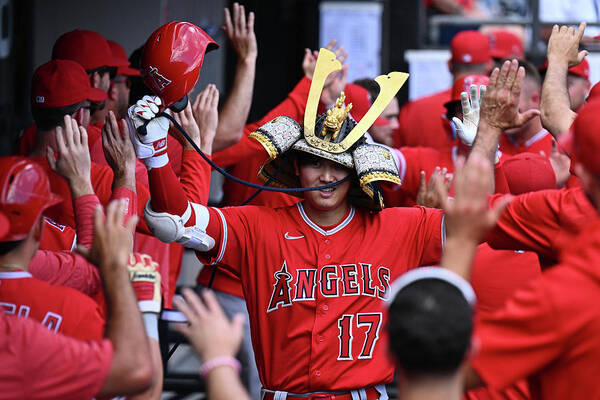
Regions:
<instances>
[{"instance_id":1,"label":"smiling player number 17 wearing a gold-horned samurai helmet","mask_svg":"<svg viewBox=\"0 0 600 400\"><path fill-rule=\"evenodd\" d=\"M321 49L304 129L281 116L252 137L270 157L261 174L275 184L314 187L349 178L338 186L306 192L289 207L219 210L188 203L164 153L146 159L154 166L146 208L154 233L241 277L266 399L387 398L383 384L394 366L381 303L391 280L439 259L446 235L441 210L381 210L378 181L399 183L397 166L386 147L361 139L365 121L379 116L406 77L380 77L382 97L362 126L347 117L343 98L317 120L323 82L341 68L334 60ZM166 135L155 118L158 101L146 98L130 109L136 126L149 120L137 147ZM286 165L273 176L280 162Z\"/></svg>"}]
</instances>

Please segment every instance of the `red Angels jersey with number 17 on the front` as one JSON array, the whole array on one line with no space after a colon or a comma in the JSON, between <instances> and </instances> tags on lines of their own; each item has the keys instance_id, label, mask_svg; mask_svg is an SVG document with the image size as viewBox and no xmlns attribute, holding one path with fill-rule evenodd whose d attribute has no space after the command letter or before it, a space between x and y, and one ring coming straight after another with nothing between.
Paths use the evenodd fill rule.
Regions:
<instances>
[{"instance_id":1,"label":"red Angels jersey with number 17 on the front","mask_svg":"<svg viewBox=\"0 0 600 400\"><path fill-rule=\"evenodd\" d=\"M390 382L390 282L439 262L441 210L350 208L321 227L302 203L210 209L214 257L241 277L265 388L305 393Z\"/></svg>"}]
</instances>

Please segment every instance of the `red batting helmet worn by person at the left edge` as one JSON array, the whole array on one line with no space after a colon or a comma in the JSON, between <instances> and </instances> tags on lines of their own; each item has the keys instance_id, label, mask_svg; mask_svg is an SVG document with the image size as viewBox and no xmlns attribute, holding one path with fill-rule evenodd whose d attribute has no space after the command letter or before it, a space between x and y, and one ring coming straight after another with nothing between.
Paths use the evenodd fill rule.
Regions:
<instances>
[{"instance_id":1,"label":"red batting helmet worn by person at the left edge","mask_svg":"<svg viewBox=\"0 0 600 400\"><path fill-rule=\"evenodd\" d=\"M10 227L0 241L25 239L42 212L61 201L40 165L25 157L0 158L0 213Z\"/></svg>"}]
</instances>

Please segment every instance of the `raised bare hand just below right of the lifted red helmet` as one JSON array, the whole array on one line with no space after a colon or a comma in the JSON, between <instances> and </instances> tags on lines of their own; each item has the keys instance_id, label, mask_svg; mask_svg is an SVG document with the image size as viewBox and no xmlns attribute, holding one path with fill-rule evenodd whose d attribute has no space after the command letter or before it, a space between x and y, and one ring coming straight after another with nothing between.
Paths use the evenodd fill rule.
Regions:
<instances>
[{"instance_id":1,"label":"raised bare hand just below right of the lifted red helmet","mask_svg":"<svg viewBox=\"0 0 600 400\"><path fill-rule=\"evenodd\" d=\"M218 106L219 90L213 84L208 85L198 94L192 106L194 118L200 129L201 149L206 154L212 153L212 145L219 123Z\"/></svg>"}]
</instances>

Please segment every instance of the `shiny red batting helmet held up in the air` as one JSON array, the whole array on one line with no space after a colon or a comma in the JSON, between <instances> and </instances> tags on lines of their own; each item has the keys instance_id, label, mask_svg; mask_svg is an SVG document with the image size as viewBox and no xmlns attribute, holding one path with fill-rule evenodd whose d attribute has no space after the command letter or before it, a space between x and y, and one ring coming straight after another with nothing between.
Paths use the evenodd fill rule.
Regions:
<instances>
[{"instance_id":1,"label":"shiny red batting helmet held up in the air","mask_svg":"<svg viewBox=\"0 0 600 400\"><path fill-rule=\"evenodd\" d=\"M204 53L219 45L194 24L169 22L148 38L142 56L146 86L164 107L185 98L198 81Z\"/></svg>"}]
</instances>

